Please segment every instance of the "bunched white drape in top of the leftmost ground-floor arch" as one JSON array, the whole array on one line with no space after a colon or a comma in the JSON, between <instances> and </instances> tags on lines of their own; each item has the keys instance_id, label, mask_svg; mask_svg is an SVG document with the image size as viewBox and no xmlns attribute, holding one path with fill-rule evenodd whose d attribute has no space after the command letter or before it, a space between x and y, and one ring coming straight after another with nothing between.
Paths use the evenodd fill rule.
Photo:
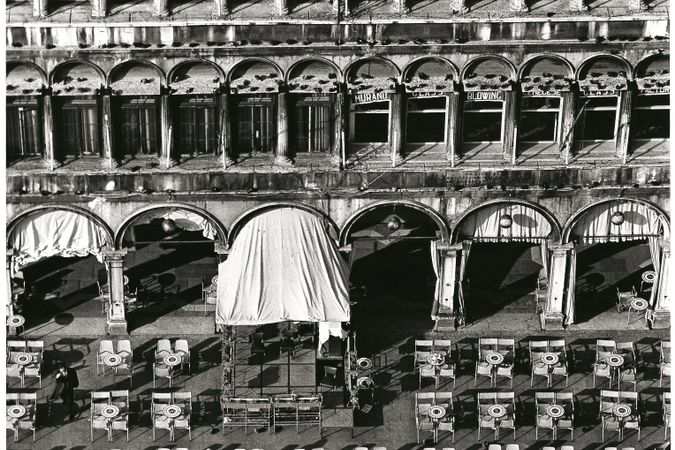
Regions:
<instances>
[{"instance_id":1,"label":"bunched white drape in top of the leftmost ground-floor arch","mask_svg":"<svg viewBox=\"0 0 675 450\"><path fill-rule=\"evenodd\" d=\"M8 236L14 264L23 267L51 256L99 256L105 230L88 217L66 210L45 210L21 220Z\"/></svg>"}]
</instances>

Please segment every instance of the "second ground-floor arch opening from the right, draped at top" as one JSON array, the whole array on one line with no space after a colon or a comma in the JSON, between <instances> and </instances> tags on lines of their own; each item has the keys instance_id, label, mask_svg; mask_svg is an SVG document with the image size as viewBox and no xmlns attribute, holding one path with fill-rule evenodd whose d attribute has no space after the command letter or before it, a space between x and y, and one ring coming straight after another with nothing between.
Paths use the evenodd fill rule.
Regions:
<instances>
[{"instance_id":1,"label":"second ground-floor arch opening from the right, draped at top","mask_svg":"<svg viewBox=\"0 0 675 450\"><path fill-rule=\"evenodd\" d=\"M550 243L559 237L555 218L527 202L495 200L464 213L453 229L453 242L462 244L460 324L536 320L534 291L548 276Z\"/></svg>"}]
</instances>

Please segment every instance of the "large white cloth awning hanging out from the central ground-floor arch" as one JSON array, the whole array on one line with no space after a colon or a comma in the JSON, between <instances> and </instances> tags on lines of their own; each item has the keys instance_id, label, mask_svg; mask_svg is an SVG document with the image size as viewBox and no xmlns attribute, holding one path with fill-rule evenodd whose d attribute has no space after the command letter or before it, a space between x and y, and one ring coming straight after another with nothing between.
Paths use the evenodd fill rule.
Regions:
<instances>
[{"instance_id":1,"label":"large white cloth awning hanging out from the central ground-floor arch","mask_svg":"<svg viewBox=\"0 0 675 450\"><path fill-rule=\"evenodd\" d=\"M278 208L251 219L218 266L216 323L349 321L349 274L315 215Z\"/></svg>"}]
</instances>

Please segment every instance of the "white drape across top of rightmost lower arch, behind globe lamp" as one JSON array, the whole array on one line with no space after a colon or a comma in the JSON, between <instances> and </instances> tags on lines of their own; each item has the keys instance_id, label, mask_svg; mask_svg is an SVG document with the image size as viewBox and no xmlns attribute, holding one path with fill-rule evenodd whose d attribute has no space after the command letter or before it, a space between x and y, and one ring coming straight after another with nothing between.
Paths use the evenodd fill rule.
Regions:
<instances>
[{"instance_id":1,"label":"white drape across top of rightmost lower arch, behind globe lamp","mask_svg":"<svg viewBox=\"0 0 675 450\"><path fill-rule=\"evenodd\" d=\"M612 214L621 212L623 223L612 223ZM572 229L580 243L623 242L660 236L665 232L659 214L647 205L621 200L602 203L587 210Z\"/></svg>"}]
</instances>

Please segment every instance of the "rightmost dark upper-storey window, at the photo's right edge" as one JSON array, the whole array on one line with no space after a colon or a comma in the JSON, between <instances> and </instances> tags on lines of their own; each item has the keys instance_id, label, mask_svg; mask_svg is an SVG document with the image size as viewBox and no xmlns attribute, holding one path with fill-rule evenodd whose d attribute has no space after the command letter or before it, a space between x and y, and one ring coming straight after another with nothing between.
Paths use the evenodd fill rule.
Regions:
<instances>
[{"instance_id":1,"label":"rightmost dark upper-storey window, at the photo's right edge","mask_svg":"<svg viewBox=\"0 0 675 450\"><path fill-rule=\"evenodd\" d=\"M670 138L668 95L639 95L631 116L633 139Z\"/></svg>"}]
</instances>

